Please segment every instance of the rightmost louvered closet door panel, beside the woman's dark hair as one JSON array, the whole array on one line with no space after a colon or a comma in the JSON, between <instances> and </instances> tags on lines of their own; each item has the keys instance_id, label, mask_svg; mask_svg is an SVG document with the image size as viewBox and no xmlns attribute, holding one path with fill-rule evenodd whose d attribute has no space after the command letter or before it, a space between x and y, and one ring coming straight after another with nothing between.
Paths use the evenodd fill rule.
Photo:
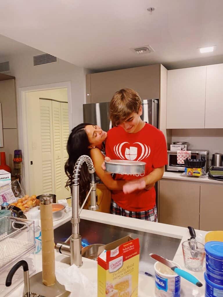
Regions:
<instances>
[{"instance_id":1,"label":"rightmost louvered closet door panel, beside the woman's dark hair","mask_svg":"<svg viewBox=\"0 0 223 297\"><path fill-rule=\"evenodd\" d=\"M63 198L70 197L70 190L65 188L65 184L67 182L67 175L64 171L64 165L67 161L67 140L69 137L69 119L68 119L68 103L61 102L60 103L60 114L61 114L61 132L62 132L62 191Z\"/></svg>"}]
</instances>

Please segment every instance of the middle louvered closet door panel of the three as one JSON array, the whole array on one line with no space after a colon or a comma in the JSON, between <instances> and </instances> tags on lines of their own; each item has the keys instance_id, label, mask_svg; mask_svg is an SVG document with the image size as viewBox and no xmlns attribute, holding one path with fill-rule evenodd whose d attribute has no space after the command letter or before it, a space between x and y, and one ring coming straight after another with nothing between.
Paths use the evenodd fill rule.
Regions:
<instances>
[{"instance_id":1,"label":"middle louvered closet door panel of the three","mask_svg":"<svg viewBox=\"0 0 223 297\"><path fill-rule=\"evenodd\" d=\"M64 171L62 171L62 129L60 102L52 101L53 139L54 139L54 166L55 166L55 194L56 199L63 199Z\"/></svg>"}]
</instances>

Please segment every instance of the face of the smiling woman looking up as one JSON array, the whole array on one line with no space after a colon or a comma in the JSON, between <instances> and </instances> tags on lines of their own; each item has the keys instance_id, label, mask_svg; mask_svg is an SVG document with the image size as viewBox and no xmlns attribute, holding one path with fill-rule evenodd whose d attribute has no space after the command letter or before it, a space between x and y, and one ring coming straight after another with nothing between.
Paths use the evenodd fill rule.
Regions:
<instances>
[{"instance_id":1,"label":"face of the smiling woman looking up","mask_svg":"<svg viewBox=\"0 0 223 297\"><path fill-rule=\"evenodd\" d=\"M99 126L96 125L87 125L85 127L85 131L90 143L89 149L93 148L94 146L98 146L100 148L101 144L107 137L107 132L103 131Z\"/></svg>"}]
</instances>

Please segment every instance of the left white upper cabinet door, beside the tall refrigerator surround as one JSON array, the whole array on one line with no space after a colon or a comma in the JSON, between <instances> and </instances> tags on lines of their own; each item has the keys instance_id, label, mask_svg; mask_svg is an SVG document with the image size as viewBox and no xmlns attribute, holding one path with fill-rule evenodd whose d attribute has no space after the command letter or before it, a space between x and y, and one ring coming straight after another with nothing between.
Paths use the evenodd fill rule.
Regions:
<instances>
[{"instance_id":1,"label":"left white upper cabinet door, beside the tall refrigerator surround","mask_svg":"<svg viewBox=\"0 0 223 297\"><path fill-rule=\"evenodd\" d=\"M205 127L205 83L206 66L167 72L167 129Z\"/></svg>"}]
</instances>

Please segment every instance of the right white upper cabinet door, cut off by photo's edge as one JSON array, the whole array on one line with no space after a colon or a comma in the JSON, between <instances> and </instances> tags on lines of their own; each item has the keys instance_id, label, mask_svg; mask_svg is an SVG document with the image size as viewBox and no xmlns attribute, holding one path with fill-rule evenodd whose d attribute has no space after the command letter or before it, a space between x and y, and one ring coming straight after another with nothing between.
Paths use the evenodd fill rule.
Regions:
<instances>
[{"instance_id":1,"label":"right white upper cabinet door, cut off by photo's edge","mask_svg":"<svg viewBox=\"0 0 223 297\"><path fill-rule=\"evenodd\" d=\"M207 66L205 128L223 128L223 64Z\"/></svg>"}]
</instances>

